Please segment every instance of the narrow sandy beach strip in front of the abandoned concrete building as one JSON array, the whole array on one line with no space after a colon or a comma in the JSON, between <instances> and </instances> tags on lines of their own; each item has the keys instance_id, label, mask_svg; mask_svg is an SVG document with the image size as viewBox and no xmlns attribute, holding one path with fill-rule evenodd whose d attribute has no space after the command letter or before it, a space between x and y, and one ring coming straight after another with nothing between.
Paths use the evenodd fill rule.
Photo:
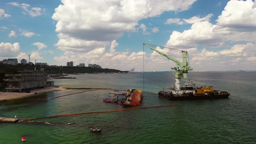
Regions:
<instances>
[{"instance_id":1,"label":"narrow sandy beach strip in front of the abandoned concrete building","mask_svg":"<svg viewBox=\"0 0 256 144\"><path fill-rule=\"evenodd\" d=\"M0 92L0 101L29 97L29 96L35 95L35 92L39 94L44 92L62 91L62 90L65 90L65 88L46 87L42 89L31 90L30 93Z\"/></svg>"}]
</instances>

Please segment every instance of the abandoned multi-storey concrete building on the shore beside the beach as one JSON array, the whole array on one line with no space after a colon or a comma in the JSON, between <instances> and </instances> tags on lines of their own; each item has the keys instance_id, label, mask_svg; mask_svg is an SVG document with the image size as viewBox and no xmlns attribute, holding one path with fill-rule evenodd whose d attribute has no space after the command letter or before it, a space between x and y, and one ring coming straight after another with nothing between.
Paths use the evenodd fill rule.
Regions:
<instances>
[{"instance_id":1,"label":"abandoned multi-storey concrete building on the shore beside the beach","mask_svg":"<svg viewBox=\"0 0 256 144\"><path fill-rule=\"evenodd\" d=\"M33 89L53 86L52 81L47 82L48 72L41 70L18 71L18 74L6 74L4 82L7 92L29 92Z\"/></svg>"}]
</instances>

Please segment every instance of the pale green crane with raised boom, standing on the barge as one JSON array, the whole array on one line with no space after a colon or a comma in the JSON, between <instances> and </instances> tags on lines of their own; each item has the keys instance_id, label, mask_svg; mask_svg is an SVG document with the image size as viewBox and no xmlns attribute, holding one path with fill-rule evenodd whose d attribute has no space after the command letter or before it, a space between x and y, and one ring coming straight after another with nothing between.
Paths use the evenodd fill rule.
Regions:
<instances>
[{"instance_id":1,"label":"pale green crane with raised boom, standing on the barge","mask_svg":"<svg viewBox=\"0 0 256 144\"><path fill-rule=\"evenodd\" d=\"M193 70L187 62L187 51L184 50L179 50L179 49L171 49L171 48L166 48L169 50L173 50L173 51L177 51L177 52L182 52L182 62L178 61L177 59L174 59L171 56L167 56L166 54L164 54L163 52L160 52L159 50L155 49L157 47L159 48L165 48L162 46L155 46L155 45L151 45L151 44L147 44L147 43L143 43L144 46L147 46L148 48L158 52L160 55L165 56L167 59L171 59L172 61L175 62L175 64L177 66L175 66L174 68L171 68L174 71L174 75L175 75L175 89L180 90L181 89L181 82L180 79L181 78L187 78L187 71L189 70ZM154 47L154 48L153 48Z\"/></svg>"}]
</instances>

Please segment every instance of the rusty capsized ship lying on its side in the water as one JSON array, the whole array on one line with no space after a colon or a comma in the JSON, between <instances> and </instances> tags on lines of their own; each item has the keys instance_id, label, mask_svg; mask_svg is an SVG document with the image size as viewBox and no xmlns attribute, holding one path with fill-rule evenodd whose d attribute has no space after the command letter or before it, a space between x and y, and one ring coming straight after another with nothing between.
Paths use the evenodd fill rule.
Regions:
<instances>
[{"instance_id":1,"label":"rusty capsized ship lying on its side in the water","mask_svg":"<svg viewBox=\"0 0 256 144\"><path fill-rule=\"evenodd\" d=\"M122 106L138 106L142 104L142 91L136 89L128 89L125 93L109 93L108 100L112 103Z\"/></svg>"}]
</instances>

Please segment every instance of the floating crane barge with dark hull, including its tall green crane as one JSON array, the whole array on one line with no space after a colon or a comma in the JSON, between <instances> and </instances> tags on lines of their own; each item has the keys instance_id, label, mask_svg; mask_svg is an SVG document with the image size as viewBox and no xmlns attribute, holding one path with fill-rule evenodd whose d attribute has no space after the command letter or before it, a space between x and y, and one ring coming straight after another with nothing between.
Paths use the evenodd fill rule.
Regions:
<instances>
[{"instance_id":1,"label":"floating crane barge with dark hull, including its tall green crane","mask_svg":"<svg viewBox=\"0 0 256 144\"><path fill-rule=\"evenodd\" d=\"M171 49L166 48L162 46L155 46L143 43L144 46L147 46L148 48L158 52L162 56L165 56L167 59L171 59L175 62L177 66L174 68L171 68L175 75L175 86L173 88L169 88L167 91L160 91L158 92L159 96L166 96L170 99L194 99L194 98L228 98L230 95L228 92L220 91L220 90L213 90L212 86L209 86L208 88L206 86L203 87L196 87L196 85L193 82L190 82L190 80L185 83L183 86L181 86L181 79L187 79L187 73L190 70L193 70L193 68L189 65L188 59L188 53L184 50L179 49ZM165 53L160 52L158 49L165 49L165 50L171 50L175 52L182 52L182 62L180 62L177 59L174 59L171 56L167 56Z\"/></svg>"}]
</instances>

